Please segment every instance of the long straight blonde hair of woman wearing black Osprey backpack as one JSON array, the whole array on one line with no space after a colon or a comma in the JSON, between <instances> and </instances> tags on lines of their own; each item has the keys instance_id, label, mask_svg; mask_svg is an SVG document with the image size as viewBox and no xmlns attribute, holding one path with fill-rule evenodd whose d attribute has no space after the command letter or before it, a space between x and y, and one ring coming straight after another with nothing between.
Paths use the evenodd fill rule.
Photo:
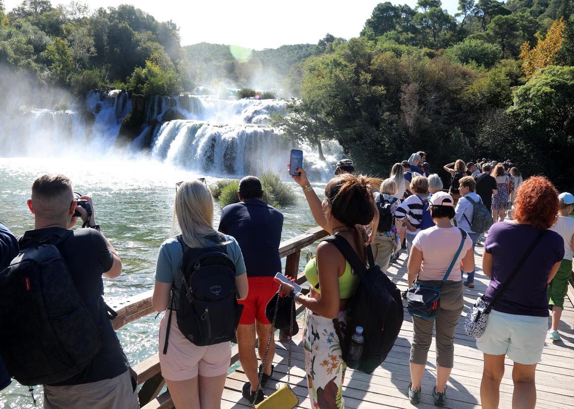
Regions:
<instances>
[{"instance_id":1,"label":"long straight blonde hair of woman wearing black Osprey backpack","mask_svg":"<svg viewBox=\"0 0 574 409\"><path fill-rule=\"evenodd\" d=\"M199 180L183 182L176 192L173 224L181 230L183 241L191 248L226 244L226 237L216 231L214 201L210 190Z\"/></svg>"}]
</instances>

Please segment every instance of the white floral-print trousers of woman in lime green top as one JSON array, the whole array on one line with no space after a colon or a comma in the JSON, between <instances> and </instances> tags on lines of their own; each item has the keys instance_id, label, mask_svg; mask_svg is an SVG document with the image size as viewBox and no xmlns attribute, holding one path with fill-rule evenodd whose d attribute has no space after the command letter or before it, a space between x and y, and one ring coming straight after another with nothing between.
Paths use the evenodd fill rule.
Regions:
<instances>
[{"instance_id":1,"label":"white floral-print trousers of woman in lime green top","mask_svg":"<svg viewBox=\"0 0 574 409\"><path fill-rule=\"evenodd\" d=\"M336 319L344 334L346 311L341 311ZM346 365L333 320L305 310L303 348L311 407L344 409L343 380Z\"/></svg>"}]
</instances>

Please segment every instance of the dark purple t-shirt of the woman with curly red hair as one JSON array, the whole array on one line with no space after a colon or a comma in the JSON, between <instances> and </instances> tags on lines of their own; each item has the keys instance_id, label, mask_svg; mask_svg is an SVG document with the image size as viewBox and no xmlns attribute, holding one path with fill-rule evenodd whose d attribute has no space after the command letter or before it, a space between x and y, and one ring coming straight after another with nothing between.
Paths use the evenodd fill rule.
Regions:
<instances>
[{"instance_id":1,"label":"dark purple t-shirt of the woman with curly red hair","mask_svg":"<svg viewBox=\"0 0 574 409\"><path fill-rule=\"evenodd\" d=\"M490 301L514 270L540 230L528 224L501 221L488 231L484 248L492 254L492 278L484 294ZM548 275L554 264L564 257L564 241L553 231L546 231L521 270L502 293L493 309L501 313L548 317Z\"/></svg>"}]
</instances>

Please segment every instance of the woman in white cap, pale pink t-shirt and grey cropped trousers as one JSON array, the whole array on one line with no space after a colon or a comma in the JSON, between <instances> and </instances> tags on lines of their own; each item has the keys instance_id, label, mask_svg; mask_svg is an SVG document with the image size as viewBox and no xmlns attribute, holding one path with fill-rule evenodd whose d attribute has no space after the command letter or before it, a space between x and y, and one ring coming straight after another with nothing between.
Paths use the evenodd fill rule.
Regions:
<instances>
[{"instance_id":1,"label":"woman in white cap, pale pink t-shirt and grey cropped trousers","mask_svg":"<svg viewBox=\"0 0 574 409\"><path fill-rule=\"evenodd\" d=\"M439 315L433 319L413 316L413 342L410 346L410 379L408 394L411 403L420 402L422 375L425 372L426 357L432 341L433 324L436 325L436 386L432 394L436 406L444 406L447 381L451 374L455 347L456 324L463 311L463 283L460 268L472 271L474 253L472 240L461 229L451 225L455 217L452 197L437 192L430 197L430 215L435 227L422 230L414 238L409 256L409 287L416 280L421 284L442 287ZM465 237L466 236L466 237ZM443 278L455 258L462 241L460 254L447 280Z\"/></svg>"}]
</instances>

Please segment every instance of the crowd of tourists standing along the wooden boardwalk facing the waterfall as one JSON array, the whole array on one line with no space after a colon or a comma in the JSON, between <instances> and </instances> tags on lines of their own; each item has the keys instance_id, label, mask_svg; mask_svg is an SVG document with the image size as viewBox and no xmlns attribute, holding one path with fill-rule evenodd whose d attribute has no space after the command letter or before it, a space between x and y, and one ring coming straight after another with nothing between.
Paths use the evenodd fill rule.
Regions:
<instances>
[{"instance_id":1,"label":"crowd of tourists standing along the wooden boardwalk facing the waterfall","mask_svg":"<svg viewBox=\"0 0 574 409\"><path fill-rule=\"evenodd\" d=\"M483 240L487 289L479 301L488 306L488 321L476 341L484 356L481 404L499 407L507 356L514 362L513 408L534 408L545 339L560 341L572 274L574 196L559 194L542 176L523 180L511 161L457 159L443 169L448 187L422 151L395 163L385 179L355 174L352 161L343 159L323 200L305 169L294 169L316 223L331 235L305 266L308 291L294 278L276 278L284 216L263 201L257 177L239 182L240 201L222 209L218 228L205 180L178 182L174 220L180 235L159 248L152 297L153 308L164 313L158 352L174 406L220 407L232 340L247 378L243 398L249 404L267 399L263 388L278 379L273 333L280 325L277 310L270 316L268 307L277 296L277 304L293 300L305 307L302 350L311 407L343 408L349 307L365 279L356 259L370 274L384 275L404 251L409 289L402 298L413 322L411 381L404 393L412 404L421 400L434 328L432 396L444 406L463 294L475 287L475 252ZM35 308L33 328L24 329L20 323L32 307L0 306L3 330L12 334L0 339L6 364L0 360L0 388L11 375L25 385L44 385L46 409L138 408L136 374L102 298L102 277L117 278L122 262L96 223L92 197L74 193L61 174L45 174L33 181L28 207L34 229L19 239L0 223L0 298L4 305L25 299ZM85 228L73 229L78 220ZM400 283L393 281L397 289ZM440 302L437 297L426 312L413 307L425 304L429 291Z\"/></svg>"}]
</instances>

